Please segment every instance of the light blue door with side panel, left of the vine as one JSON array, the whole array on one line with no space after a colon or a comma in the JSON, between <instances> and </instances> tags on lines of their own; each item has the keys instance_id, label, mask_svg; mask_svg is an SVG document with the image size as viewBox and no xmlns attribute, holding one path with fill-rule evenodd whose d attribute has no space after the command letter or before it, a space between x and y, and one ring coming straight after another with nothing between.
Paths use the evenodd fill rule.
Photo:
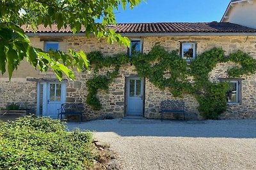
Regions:
<instances>
[{"instance_id":1,"label":"light blue door with side panel, left of the vine","mask_svg":"<svg viewBox=\"0 0 256 170\"><path fill-rule=\"evenodd\" d=\"M40 83L38 92L38 115L58 118L58 109L66 101L66 83Z\"/></svg>"}]
</instances>

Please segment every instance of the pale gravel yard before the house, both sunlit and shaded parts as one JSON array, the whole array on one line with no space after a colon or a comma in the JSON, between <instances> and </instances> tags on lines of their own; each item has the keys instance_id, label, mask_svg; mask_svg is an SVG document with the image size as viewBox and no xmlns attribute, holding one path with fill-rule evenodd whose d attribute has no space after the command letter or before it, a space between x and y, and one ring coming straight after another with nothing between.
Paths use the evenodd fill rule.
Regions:
<instances>
[{"instance_id":1,"label":"pale gravel yard before the house, both sunlit and shaded parts","mask_svg":"<svg viewBox=\"0 0 256 170\"><path fill-rule=\"evenodd\" d=\"M68 123L110 143L122 169L256 169L256 120Z\"/></svg>"}]
</instances>

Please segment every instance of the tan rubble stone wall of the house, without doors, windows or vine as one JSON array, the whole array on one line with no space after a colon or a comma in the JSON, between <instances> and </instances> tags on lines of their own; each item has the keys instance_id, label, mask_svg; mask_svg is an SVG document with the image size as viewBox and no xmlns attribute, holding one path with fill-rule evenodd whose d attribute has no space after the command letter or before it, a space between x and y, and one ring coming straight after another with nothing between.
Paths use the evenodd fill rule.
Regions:
<instances>
[{"instance_id":1,"label":"tan rubble stone wall of the house, without doors, windows or vine","mask_svg":"<svg viewBox=\"0 0 256 170\"><path fill-rule=\"evenodd\" d=\"M31 38L31 42L38 48L44 48L44 41L47 38ZM51 38L52 39L52 38ZM92 52L99 50L104 55L113 55L115 53L127 53L127 48L121 45L109 45L105 40L97 40L94 38L84 38L82 36L67 36L58 38L60 40L60 50L67 51L72 48L76 51ZM166 50L179 50L181 42L197 43L196 53L200 54L213 47L221 47L225 50L225 54L243 50L250 53L256 59L256 37L254 36L162 36L162 37L145 37L143 38L143 52L147 53L154 45L161 45ZM218 64L216 68L209 74L212 81L218 78L227 77L228 67L234 66L234 63ZM115 78L109 87L109 92L99 91L97 97L102 103L102 110L93 111L90 106L86 106L84 120L95 118L125 117L125 78L136 76L135 67L127 64L120 68L120 75ZM22 72L19 72L22 70ZM113 68L104 68L100 70L100 74L105 74ZM86 80L93 77L92 73L77 73L76 81L67 81L67 102L83 102L86 101L88 91L86 89ZM14 73L11 82L8 82L7 74L0 76L0 107L6 106L8 102L24 102L29 108L36 108L36 82L26 81L27 78L56 78L52 71L47 73L39 73L33 67L23 63ZM238 105L228 106L228 111L221 115L221 118L256 118L256 76L244 77L242 84L242 103ZM161 91L150 81L145 80L145 104L144 117L160 118L160 102L165 99L175 99L168 90ZM186 111L189 114L197 114L196 107L198 103L195 98L190 95L184 95L182 100L186 103ZM198 118L201 118L198 115Z\"/></svg>"}]
</instances>

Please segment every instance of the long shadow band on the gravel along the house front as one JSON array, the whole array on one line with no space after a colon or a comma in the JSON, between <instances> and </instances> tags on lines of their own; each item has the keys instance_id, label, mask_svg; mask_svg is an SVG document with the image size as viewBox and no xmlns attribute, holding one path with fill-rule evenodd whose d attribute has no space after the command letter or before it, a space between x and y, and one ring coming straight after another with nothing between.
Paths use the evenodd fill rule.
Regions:
<instances>
[{"instance_id":1,"label":"long shadow band on the gravel along the house front","mask_svg":"<svg viewBox=\"0 0 256 170\"><path fill-rule=\"evenodd\" d=\"M188 138L256 138L256 120L95 120L67 124L68 130L114 132L119 136L161 136Z\"/></svg>"}]
</instances>

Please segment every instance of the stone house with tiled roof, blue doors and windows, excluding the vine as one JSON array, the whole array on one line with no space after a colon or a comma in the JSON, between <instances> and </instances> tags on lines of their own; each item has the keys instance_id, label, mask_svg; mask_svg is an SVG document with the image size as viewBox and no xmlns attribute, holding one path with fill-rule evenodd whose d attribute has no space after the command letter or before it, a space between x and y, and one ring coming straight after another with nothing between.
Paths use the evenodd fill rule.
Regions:
<instances>
[{"instance_id":1,"label":"stone house with tiled roof, blue doors and windows, excluding the vine","mask_svg":"<svg viewBox=\"0 0 256 170\"><path fill-rule=\"evenodd\" d=\"M251 3L255 5L254 1L231 1L221 22L117 24L113 29L122 36L127 36L138 52L148 53L158 44L167 51L180 49L180 57L189 61L213 47L221 47L226 55L243 50L256 59L256 29L251 25L246 27L244 23L231 23L233 20L239 22L238 19L232 19L232 10L239 13L241 10L236 10L236 6L251 6ZM241 15L236 15L239 16ZM85 53L100 51L104 55L131 53L131 49L117 44L109 45L105 39L86 38L83 29L76 35L68 28L58 30L56 25L52 25L51 29L40 25L35 34L29 29L25 31L32 45L45 51L52 48L67 52L72 48L83 50ZM186 52L189 50L193 53L188 55ZM227 69L233 66L235 64L232 62L218 64L209 74L211 80L225 80ZM127 115L160 118L161 101L175 98L168 90L162 91L147 78L140 78L134 69L130 64L120 68L120 75L111 83L109 92L99 91L97 94L102 109L94 111L90 106L86 106L84 120L120 118ZM101 73L104 74L108 70L103 69ZM76 81L64 79L60 82L52 71L40 73L24 61L13 73L11 81L8 81L7 74L0 76L0 108L10 102L26 104L36 115L57 118L57 109L61 103L85 103L88 95L86 81L92 78L93 74L76 71L74 73ZM255 78L256 76L252 75L228 80L232 84L234 94L232 98L227 99L228 111L223 113L221 118L256 118ZM198 115L195 97L185 95L182 100L186 103L188 113Z\"/></svg>"}]
</instances>

